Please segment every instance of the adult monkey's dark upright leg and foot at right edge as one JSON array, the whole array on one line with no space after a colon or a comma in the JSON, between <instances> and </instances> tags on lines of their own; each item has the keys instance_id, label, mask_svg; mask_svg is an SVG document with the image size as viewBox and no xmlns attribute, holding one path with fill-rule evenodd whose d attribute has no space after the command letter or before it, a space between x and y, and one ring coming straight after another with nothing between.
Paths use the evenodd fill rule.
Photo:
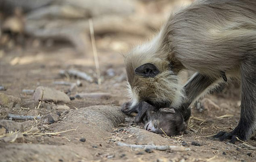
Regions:
<instances>
[{"instance_id":1,"label":"adult monkey's dark upright leg and foot at right edge","mask_svg":"<svg viewBox=\"0 0 256 162\"><path fill-rule=\"evenodd\" d=\"M237 127L230 133L221 131L215 138L221 141L231 139L236 142L236 137L248 140L256 131L256 63L241 65L241 115Z\"/></svg>"}]
</instances>

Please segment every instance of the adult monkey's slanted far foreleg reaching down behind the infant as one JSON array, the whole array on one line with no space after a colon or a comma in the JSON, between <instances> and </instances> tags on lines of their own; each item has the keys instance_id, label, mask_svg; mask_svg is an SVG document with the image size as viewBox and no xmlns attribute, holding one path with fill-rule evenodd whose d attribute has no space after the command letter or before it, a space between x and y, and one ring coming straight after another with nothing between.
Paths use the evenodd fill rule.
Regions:
<instances>
[{"instance_id":1,"label":"adult monkey's slanted far foreleg reaching down behind the infant","mask_svg":"<svg viewBox=\"0 0 256 162\"><path fill-rule=\"evenodd\" d=\"M198 99L202 94L206 93L207 90L217 86L219 82L221 81L217 78L208 77L198 72L192 76L192 78L184 86L186 99L180 106L180 110L183 113L185 121L188 120L191 115L190 108L188 108L189 105L195 99Z\"/></svg>"}]
</instances>

